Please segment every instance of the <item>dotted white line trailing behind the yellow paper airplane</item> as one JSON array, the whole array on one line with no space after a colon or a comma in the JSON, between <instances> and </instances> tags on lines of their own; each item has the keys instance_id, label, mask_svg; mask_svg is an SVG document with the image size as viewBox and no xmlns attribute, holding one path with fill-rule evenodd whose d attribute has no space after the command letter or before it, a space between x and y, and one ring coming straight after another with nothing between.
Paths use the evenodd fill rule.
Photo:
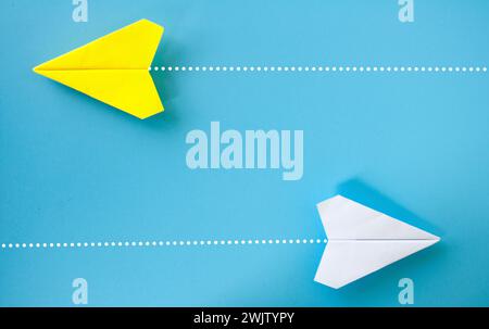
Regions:
<instances>
[{"instance_id":1,"label":"dotted white line trailing behind the yellow paper airplane","mask_svg":"<svg viewBox=\"0 0 489 329\"><path fill-rule=\"evenodd\" d=\"M154 72L487 73L487 66L150 66Z\"/></svg>"}]
</instances>

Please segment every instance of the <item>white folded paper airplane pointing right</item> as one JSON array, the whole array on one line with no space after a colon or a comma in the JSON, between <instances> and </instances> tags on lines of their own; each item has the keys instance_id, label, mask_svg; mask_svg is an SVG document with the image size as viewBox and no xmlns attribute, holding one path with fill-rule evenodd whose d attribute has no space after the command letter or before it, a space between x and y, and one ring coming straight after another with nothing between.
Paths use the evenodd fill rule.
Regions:
<instances>
[{"instance_id":1,"label":"white folded paper airplane pointing right","mask_svg":"<svg viewBox=\"0 0 489 329\"><path fill-rule=\"evenodd\" d=\"M317 210L328 241L314 280L335 289L440 241L341 195Z\"/></svg>"}]
</instances>

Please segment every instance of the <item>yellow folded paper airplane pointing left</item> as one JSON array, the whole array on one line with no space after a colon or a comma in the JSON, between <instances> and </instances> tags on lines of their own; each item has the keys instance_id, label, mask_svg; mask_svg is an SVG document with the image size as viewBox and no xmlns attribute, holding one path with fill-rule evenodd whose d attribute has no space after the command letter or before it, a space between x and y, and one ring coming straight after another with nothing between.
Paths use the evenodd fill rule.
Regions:
<instances>
[{"instance_id":1,"label":"yellow folded paper airplane pointing left","mask_svg":"<svg viewBox=\"0 0 489 329\"><path fill-rule=\"evenodd\" d=\"M101 102L147 118L163 111L150 67L163 27L141 20L34 68Z\"/></svg>"}]
</instances>

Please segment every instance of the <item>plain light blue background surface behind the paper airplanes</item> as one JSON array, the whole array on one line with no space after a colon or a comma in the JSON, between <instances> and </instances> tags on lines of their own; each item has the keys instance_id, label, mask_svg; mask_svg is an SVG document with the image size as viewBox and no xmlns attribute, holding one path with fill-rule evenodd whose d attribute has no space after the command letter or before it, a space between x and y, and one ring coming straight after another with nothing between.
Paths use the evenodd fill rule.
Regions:
<instances>
[{"instance_id":1,"label":"plain light blue background surface behind the paper airplanes","mask_svg":"<svg viewBox=\"0 0 489 329\"><path fill-rule=\"evenodd\" d=\"M72 1L0 4L0 242L324 238L338 192L442 238L335 291L321 244L1 250L0 305L489 305L487 73L158 73L139 121L32 67L140 18L158 65L487 65L489 2ZM304 176L190 170L191 129L304 130Z\"/></svg>"}]
</instances>

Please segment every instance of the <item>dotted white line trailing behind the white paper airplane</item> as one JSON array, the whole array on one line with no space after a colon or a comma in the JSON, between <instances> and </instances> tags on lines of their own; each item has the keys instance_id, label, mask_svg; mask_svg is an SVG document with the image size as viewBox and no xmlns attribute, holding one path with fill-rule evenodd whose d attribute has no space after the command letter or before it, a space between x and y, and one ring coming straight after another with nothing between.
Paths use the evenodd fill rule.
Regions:
<instances>
[{"instance_id":1,"label":"dotted white line trailing behind the white paper airplane","mask_svg":"<svg viewBox=\"0 0 489 329\"><path fill-rule=\"evenodd\" d=\"M87 249L87 248L158 248L202 245L252 245L252 244L325 244L327 239L255 239L255 240L145 240L145 241L91 241L91 242L37 242L1 243L2 250L17 249Z\"/></svg>"}]
</instances>

